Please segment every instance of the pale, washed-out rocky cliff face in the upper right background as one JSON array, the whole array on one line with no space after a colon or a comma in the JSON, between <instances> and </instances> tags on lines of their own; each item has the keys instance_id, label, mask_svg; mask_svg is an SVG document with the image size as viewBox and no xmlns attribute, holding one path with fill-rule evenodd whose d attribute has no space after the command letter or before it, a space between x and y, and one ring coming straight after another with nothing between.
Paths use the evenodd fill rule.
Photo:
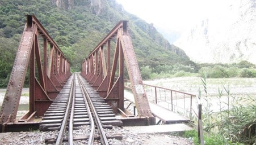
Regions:
<instances>
[{"instance_id":1,"label":"pale, washed-out rocky cliff face in the upper right background","mask_svg":"<svg viewBox=\"0 0 256 145\"><path fill-rule=\"evenodd\" d=\"M220 10L216 10L220 11ZM198 63L256 64L256 1L234 0L174 44Z\"/></svg>"}]
</instances>

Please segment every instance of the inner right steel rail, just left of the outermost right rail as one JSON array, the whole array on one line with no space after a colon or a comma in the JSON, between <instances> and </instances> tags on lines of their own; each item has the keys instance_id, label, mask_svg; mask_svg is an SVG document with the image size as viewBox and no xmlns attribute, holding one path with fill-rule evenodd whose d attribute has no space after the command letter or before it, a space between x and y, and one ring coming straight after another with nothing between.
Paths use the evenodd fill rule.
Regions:
<instances>
[{"instance_id":1,"label":"inner right steel rail, just left of the outermost right rail","mask_svg":"<svg viewBox=\"0 0 256 145\"><path fill-rule=\"evenodd\" d=\"M77 75L77 78L78 78L79 85L82 86L82 82L79 80L78 75ZM90 137L88 139L88 143L87 144L93 145L94 137L95 137L95 123L94 123L93 115L92 115L90 107L89 107L89 103L87 102L87 99L86 99L86 94L85 94L85 92L83 90L83 87L81 88L81 90L82 90L83 100L85 101L86 108L87 108L87 113L88 113L90 124L91 124L91 133L90 133Z\"/></svg>"}]
</instances>

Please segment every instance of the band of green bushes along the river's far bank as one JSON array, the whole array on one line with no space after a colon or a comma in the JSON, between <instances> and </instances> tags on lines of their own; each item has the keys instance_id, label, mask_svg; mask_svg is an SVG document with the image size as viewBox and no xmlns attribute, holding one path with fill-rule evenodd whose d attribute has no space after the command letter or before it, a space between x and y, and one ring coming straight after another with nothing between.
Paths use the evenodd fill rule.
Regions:
<instances>
[{"instance_id":1,"label":"band of green bushes along the river's far bank","mask_svg":"<svg viewBox=\"0 0 256 145\"><path fill-rule=\"evenodd\" d=\"M230 78L230 77L256 77L256 65L248 61L241 61L233 64L198 64L191 65L157 65L152 68L149 65L142 65L141 76L146 79L200 76L207 71L209 78Z\"/></svg>"}]
</instances>

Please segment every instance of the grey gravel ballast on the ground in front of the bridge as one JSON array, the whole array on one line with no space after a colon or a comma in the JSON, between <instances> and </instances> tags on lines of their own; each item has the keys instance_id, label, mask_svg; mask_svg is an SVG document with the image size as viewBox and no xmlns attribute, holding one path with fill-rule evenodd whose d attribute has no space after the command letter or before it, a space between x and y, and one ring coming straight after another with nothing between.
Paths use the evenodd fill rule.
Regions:
<instances>
[{"instance_id":1,"label":"grey gravel ballast on the ground in front of the bridge","mask_svg":"<svg viewBox=\"0 0 256 145\"><path fill-rule=\"evenodd\" d=\"M130 127L131 128L131 127ZM81 127L81 129L74 131L75 135L81 135L81 133L87 133L90 128ZM123 139L108 139L109 144L113 145L128 145L128 144L193 144L191 140L187 138L177 137L170 134L137 134L133 131L119 128L114 126L113 129L105 129L107 134L121 134ZM58 131L29 131L18 133L0 133L0 144L47 144L45 139L56 138ZM99 140L95 140L94 144L100 144ZM85 144L86 140L74 141L74 144ZM49 143L52 144L52 143ZM65 142L64 144L68 144Z\"/></svg>"}]
</instances>

